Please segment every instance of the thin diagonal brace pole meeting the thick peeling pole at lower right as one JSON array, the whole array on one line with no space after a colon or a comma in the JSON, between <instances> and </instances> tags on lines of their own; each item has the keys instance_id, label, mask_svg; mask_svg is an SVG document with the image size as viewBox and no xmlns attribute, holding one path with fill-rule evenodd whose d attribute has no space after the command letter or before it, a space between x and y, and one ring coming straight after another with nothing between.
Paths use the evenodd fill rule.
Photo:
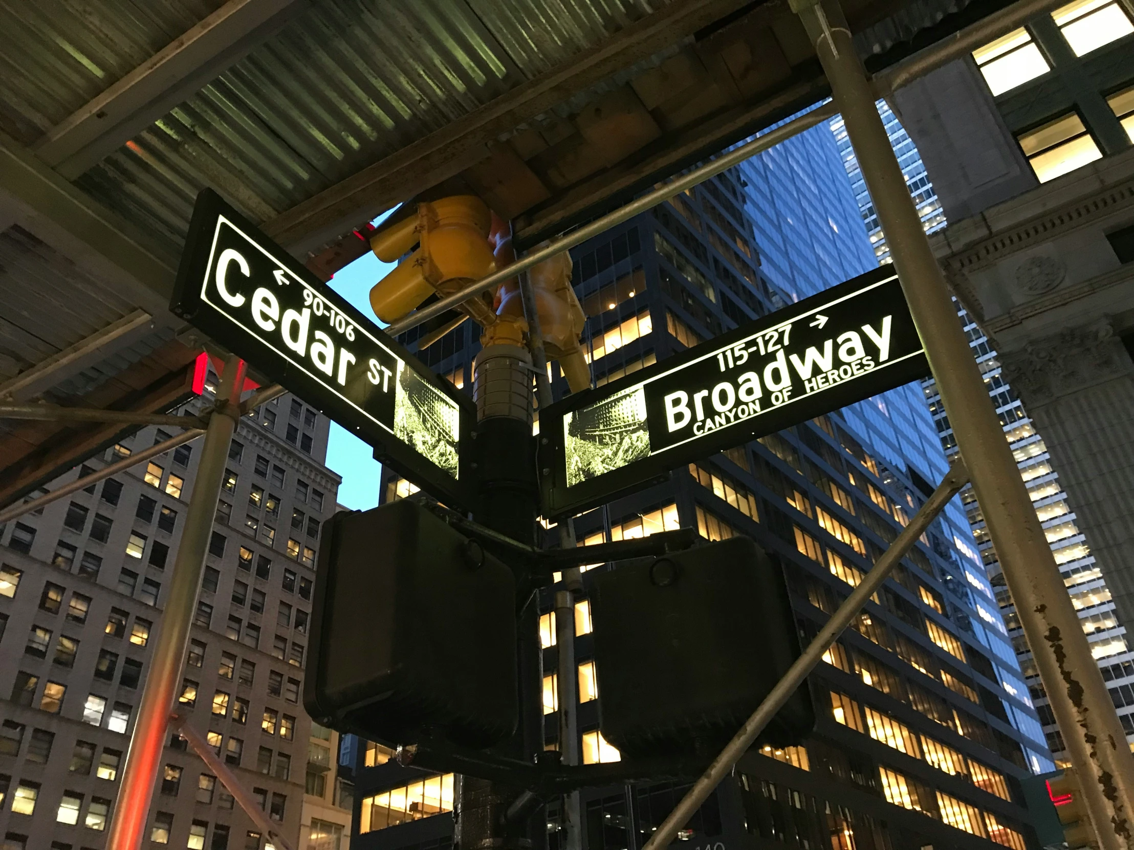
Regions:
<instances>
[{"instance_id":1,"label":"thin diagonal brace pole meeting the thick peeling pole at lower right","mask_svg":"<svg viewBox=\"0 0 1134 850\"><path fill-rule=\"evenodd\" d=\"M929 528L937 515L940 513L949 500L953 499L960 488L968 483L968 470L960 460L955 460L949 471L946 473L937 490L914 515L909 524L902 529L889 549L882 553L873 568L863 577L854 592L847 596L846 601L839 605L838 610L831 614L831 619L820 630L815 638L807 645L795 663L788 669L771 692L764 697L760 707L753 712L752 716L741 726L741 730L733 737L720 755L709 765L709 770L702 774L701 779L693 783L682 801L669 814L658 831L650 836L642 850L661 850L677 838L677 831L688 823L697 808L709 799L709 794L720 784L731 772L741 757L748 751L748 747L756 740L756 736L768 725L769 721L776 716L776 712L784 707L784 704L795 694L796 688L807 678L807 673L814 669L820 658L823 657L831 644L857 617L862 606L874 595L882 583L889 577L898 561L905 558L917 538Z\"/></svg>"}]
</instances>

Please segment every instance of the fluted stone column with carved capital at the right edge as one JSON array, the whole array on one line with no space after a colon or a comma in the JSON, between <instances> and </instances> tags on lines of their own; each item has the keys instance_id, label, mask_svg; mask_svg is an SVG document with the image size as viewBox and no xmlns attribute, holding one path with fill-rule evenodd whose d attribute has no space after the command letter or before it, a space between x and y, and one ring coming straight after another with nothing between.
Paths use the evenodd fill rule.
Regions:
<instances>
[{"instance_id":1,"label":"fluted stone column with carved capital at the right edge","mask_svg":"<svg viewBox=\"0 0 1134 850\"><path fill-rule=\"evenodd\" d=\"M1134 360L1109 318L999 356L1134 640Z\"/></svg>"}]
</instances>

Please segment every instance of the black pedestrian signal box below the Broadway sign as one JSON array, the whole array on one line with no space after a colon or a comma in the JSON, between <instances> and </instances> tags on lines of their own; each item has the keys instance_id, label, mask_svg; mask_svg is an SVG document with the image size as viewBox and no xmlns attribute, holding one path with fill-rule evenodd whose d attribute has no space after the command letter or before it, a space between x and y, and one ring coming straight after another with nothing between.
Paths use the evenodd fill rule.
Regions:
<instances>
[{"instance_id":1,"label":"black pedestrian signal box below the Broadway sign","mask_svg":"<svg viewBox=\"0 0 1134 850\"><path fill-rule=\"evenodd\" d=\"M599 725L634 757L716 755L799 655L784 570L747 537L599 576L591 615ZM756 746L814 723L804 682Z\"/></svg>"}]
</instances>

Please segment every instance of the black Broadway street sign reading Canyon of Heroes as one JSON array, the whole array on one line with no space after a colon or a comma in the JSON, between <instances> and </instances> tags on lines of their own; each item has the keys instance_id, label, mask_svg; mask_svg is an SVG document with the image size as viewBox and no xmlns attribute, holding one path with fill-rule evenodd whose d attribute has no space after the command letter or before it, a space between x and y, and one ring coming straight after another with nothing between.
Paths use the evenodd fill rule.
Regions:
<instances>
[{"instance_id":1,"label":"black Broadway street sign reading Canyon of Heroes","mask_svg":"<svg viewBox=\"0 0 1134 850\"><path fill-rule=\"evenodd\" d=\"M929 374L892 266L848 280L540 415L543 515Z\"/></svg>"}]
</instances>

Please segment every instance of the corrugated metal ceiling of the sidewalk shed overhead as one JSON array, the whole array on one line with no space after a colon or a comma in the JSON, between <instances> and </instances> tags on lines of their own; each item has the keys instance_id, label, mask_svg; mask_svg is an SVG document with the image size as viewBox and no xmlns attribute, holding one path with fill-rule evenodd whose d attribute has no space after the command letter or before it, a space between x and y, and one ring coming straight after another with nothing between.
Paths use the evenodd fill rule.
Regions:
<instances>
[{"instance_id":1,"label":"corrugated metal ceiling of the sidewalk shed overhead","mask_svg":"<svg viewBox=\"0 0 1134 850\"><path fill-rule=\"evenodd\" d=\"M666 2L321 0L77 185L177 252L204 186L270 219ZM0 126L34 144L218 5L56 0L17 25L0 0L0 56L27 63Z\"/></svg>"}]
</instances>

